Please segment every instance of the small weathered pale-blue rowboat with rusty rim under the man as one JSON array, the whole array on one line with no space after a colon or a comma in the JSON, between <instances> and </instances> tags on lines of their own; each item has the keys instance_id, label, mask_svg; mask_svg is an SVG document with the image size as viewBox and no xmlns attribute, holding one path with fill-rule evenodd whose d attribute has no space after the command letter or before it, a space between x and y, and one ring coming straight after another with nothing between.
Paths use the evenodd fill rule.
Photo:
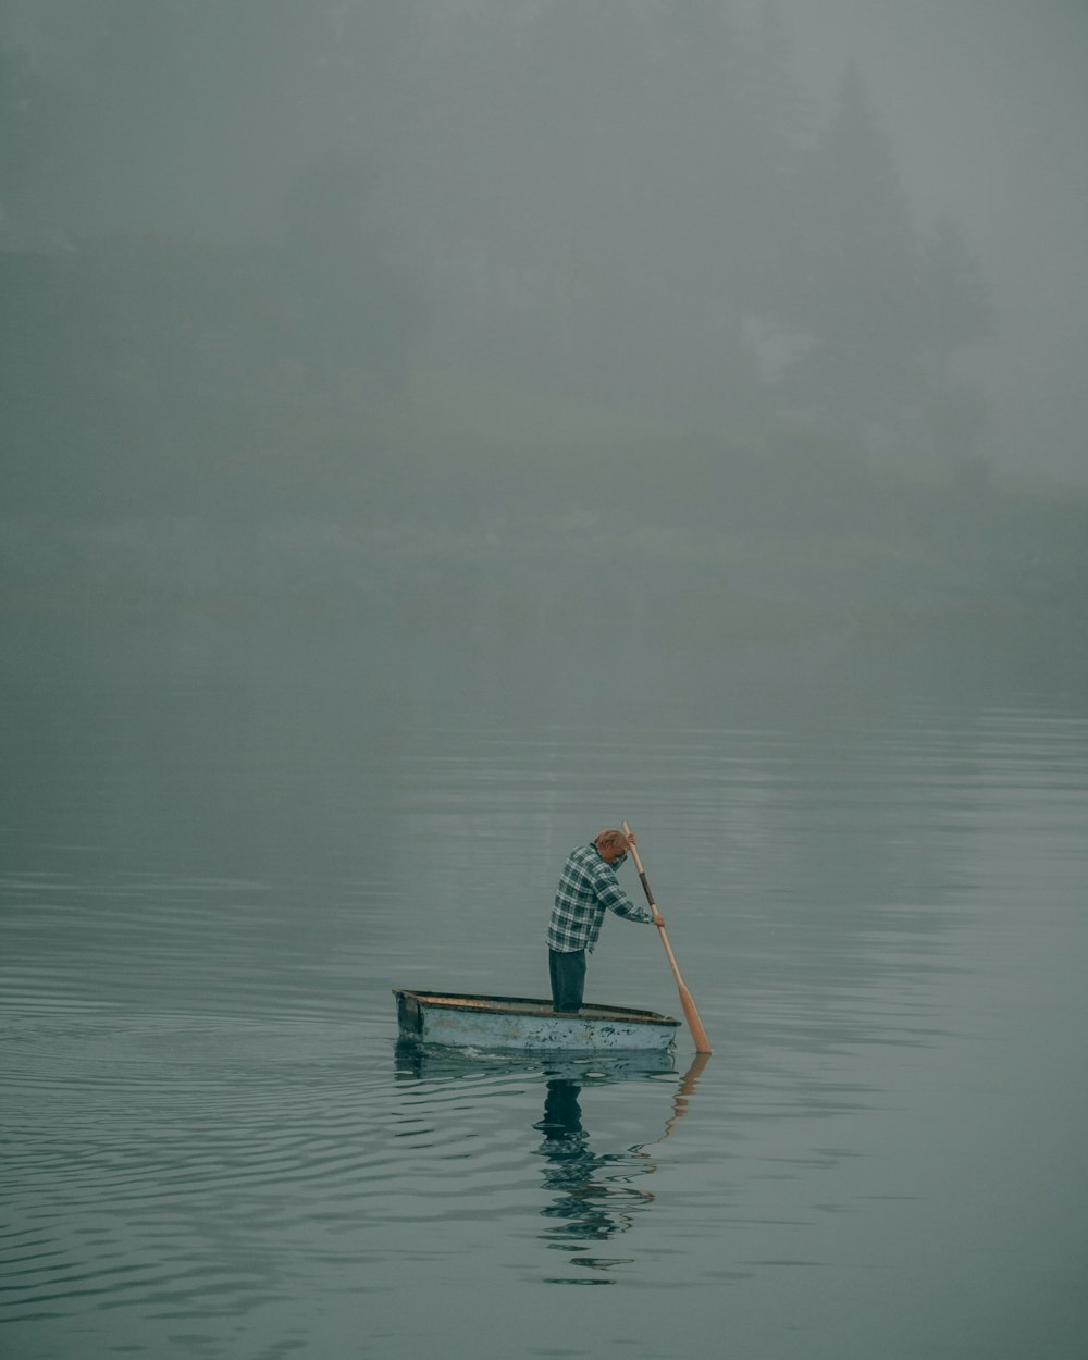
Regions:
<instances>
[{"instance_id":1,"label":"small weathered pale-blue rowboat with rusty rim under the man","mask_svg":"<svg viewBox=\"0 0 1088 1360\"><path fill-rule=\"evenodd\" d=\"M679 1020L630 1006L585 1005L556 1015L532 997L476 997L456 991L401 991L403 1039L457 1047L563 1053L669 1053Z\"/></svg>"}]
</instances>

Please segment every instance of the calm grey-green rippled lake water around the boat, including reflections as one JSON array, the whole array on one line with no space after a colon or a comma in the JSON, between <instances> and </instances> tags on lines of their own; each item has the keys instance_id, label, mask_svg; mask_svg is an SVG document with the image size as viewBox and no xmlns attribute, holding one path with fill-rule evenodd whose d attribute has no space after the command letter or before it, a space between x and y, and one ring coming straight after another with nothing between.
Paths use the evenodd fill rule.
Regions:
<instances>
[{"instance_id":1,"label":"calm grey-green rippled lake water around the boat, including reflections","mask_svg":"<svg viewBox=\"0 0 1088 1360\"><path fill-rule=\"evenodd\" d=\"M1084 711L401 680L15 677L0 1353L1085 1353ZM547 990L622 819L714 1055L400 1050L394 986ZM656 932L588 997L679 1015Z\"/></svg>"}]
</instances>

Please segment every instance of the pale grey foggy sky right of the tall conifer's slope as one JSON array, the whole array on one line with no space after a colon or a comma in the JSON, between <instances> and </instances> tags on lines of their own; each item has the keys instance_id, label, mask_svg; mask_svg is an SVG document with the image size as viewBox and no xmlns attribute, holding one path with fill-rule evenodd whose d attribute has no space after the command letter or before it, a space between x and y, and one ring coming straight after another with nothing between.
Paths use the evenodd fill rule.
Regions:
<instances>
[{"instance_id":1,"label":"pale grey foggy sky right of the tall conifer's slope","mask_svg":"<svg viewBox=\"0 0 1088 1360\"><path fill-rule=\"evenodd\" d=\"M966 226L998 317L991 456L1084 481L1088 11L1077 0L789 0L806 86L861 63L914 212Z\"/></svg>"}]
</instances>

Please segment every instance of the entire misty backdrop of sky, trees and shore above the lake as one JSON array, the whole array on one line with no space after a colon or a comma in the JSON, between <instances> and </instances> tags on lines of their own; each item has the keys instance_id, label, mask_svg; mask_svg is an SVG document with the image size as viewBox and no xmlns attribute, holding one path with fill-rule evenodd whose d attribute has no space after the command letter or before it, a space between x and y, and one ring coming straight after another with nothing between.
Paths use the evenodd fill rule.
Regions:
<instances>
[{"instance_id":1,"label":"entire misty backdrop of sky, trees and shore above the lake","mask_svg":"<svg viewBox=\"0 0 1088 1360\"><path fill-rule=\"evenodd\" d=\"M8 0L8 654L291 620L500 690L602 611L1080 685L1087 53L1062 0Z\"/></svg>"}]
</instances>

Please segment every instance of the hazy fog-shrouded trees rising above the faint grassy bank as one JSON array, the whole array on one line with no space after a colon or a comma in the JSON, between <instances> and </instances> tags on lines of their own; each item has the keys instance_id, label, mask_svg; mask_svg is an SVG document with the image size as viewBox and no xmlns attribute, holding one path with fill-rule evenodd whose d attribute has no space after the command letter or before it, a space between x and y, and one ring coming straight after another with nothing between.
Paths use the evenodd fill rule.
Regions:
<instances>
[{"instance_id":1,"label":"hazy fog-shrouded trees rising above the faint grassy bank","mask_svg":"<svg viewBox=\"0 0 1088 1360\"><path fill-rule=\"evenodd\" d=\"M857 69L813 109L772 5L758 33L703 0L446 10L116 0L63 83L4 60L3 397L33 462L78 438L107 475L212 426L228 457L269 397L345 392L366 458L420 366L985 454L957 375L985 282L955 220L913 222ZM201 196L222 230L171 230Z\"/></svg>"}]
</instances>

